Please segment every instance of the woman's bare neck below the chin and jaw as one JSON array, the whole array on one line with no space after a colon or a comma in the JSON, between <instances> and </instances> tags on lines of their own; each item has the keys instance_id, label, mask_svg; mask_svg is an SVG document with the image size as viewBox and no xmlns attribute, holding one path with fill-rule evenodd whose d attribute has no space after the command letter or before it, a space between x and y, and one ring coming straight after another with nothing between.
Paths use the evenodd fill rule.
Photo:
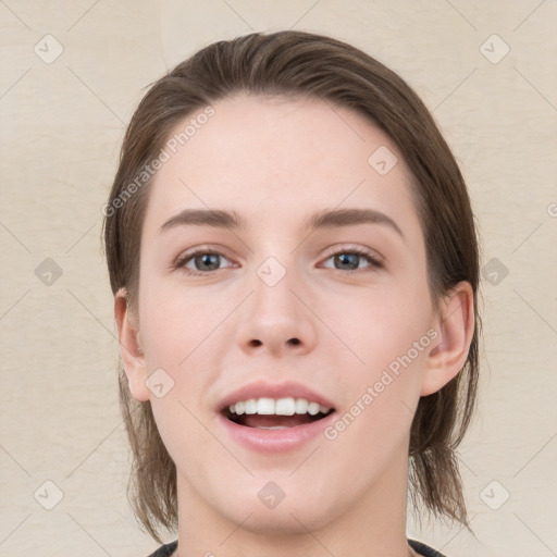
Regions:
<instances>
[{"instance_id":1,"label":"woman's bare neck below the chin and jaw","mask_svg":"<svg viewBox=\"0 0 557 557\"><path fill-rule=\"evenodd\" d=\"M285 505L262 522L261 508L219 512L178 473L178 557L408 557L406 539L408 463L389 466L361 496L321 512ZM314 493L308 493L312 496ZM260 502L258 502L259 504ZM282 508L281 508L282 507ZM304 512L306 510L306 512ZM267 511L267 510L265 510ZM269 512L269 511L267 511ZM282 515L281 515L282 512ZM317 518L315 518L317 517Z\"/></svg>"}]
</instances>

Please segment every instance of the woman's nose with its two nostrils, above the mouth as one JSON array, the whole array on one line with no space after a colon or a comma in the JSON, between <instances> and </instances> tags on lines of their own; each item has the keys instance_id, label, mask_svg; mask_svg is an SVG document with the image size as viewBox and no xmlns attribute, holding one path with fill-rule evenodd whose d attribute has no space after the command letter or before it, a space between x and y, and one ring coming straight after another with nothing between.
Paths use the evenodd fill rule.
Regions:
<instances>
[{"instance_id":1,"label":"woman's nose with its two nostrils, above the mouth","mask_svg":"<svg viewBox=\"0 0 557 557\"><path fill-rule=\"evenodd\" d=\"M299 356L313 349L317 318L308 308L314 300L294 275L287 271L276 284L264 274L255 276L236 334L243 351Z\"/></svg>"}]
</instances>

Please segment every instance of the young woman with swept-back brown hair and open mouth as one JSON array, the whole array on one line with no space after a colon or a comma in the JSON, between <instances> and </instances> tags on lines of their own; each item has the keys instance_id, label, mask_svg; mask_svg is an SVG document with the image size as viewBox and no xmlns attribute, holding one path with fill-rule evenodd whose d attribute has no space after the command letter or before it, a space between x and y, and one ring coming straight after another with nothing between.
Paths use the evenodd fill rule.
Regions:
<instances>
[{"instance_id":1,"label":"young woman with swept-back brown hair and open mouth","mask_svg":"<svg viewBox=\"0 0 557 557\"><path fill-rule=\"evenodd\" d=\"M440 556L479 374L479 247L430 112L338 39L252 33L160 78L103 208L153 556Z\"/></svg>"}]
</instances>

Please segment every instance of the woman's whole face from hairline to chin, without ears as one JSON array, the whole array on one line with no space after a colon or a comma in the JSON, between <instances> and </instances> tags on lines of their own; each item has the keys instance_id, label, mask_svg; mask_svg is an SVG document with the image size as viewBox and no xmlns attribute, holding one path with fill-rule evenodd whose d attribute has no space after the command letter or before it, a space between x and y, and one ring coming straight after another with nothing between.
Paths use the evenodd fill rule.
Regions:
<instances>
[{"instance_id":1,"label":"woman's whole face from hairline to chin, without ears","mask_svg":"<svg viewBox=\"0 0 557 557\"><path fill-rule=\"evenodd\" d=\"M314 530L406 493L437 344L410 174L346 108L236 96L213 109L149 194L137 326L156 394L133 392L151 400L191 512Z\"/></svg>"}]
</instances>

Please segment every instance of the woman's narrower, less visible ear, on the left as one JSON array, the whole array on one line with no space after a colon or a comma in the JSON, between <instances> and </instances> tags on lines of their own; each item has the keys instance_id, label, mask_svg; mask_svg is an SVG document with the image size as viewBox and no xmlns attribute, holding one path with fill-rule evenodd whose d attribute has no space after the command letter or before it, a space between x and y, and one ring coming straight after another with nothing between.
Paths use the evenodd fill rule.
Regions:
<instances>
[{"instance_id":1,"label":"woman's narrower, less visible ear, on the left","mask_svg":"<svg viewBox=\"0 0 557 557\"><path fill-rule=\"evenodd\" d=\"M139 337L139 327L127 304L127 292L120 288L114 296L114 318L117 324L120 354L129 384L129 391L137 400L150 399L150 392L145 384L147 367Z\"/></svg>"}]
</instances>

